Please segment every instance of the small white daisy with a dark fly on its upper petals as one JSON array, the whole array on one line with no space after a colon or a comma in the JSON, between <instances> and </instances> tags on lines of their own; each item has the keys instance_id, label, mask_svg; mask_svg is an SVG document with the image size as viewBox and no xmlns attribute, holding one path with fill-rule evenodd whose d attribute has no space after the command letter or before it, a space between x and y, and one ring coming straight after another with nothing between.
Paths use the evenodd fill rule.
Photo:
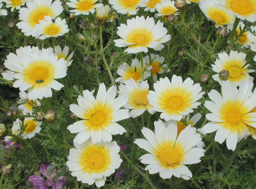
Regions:
<instances>
[{"instance_id":1,"label":"small white daisy with a dark fly on its upper petals","mask_svg":"<svg viewBox=\"0 0 256 189\"><path fill-rule=\"evenodd\" d=\"M66 25L66 20L61 20L60 17L56 19L50 16L44 16L44 20L39 20L39 23L35 24L36 33L42 35L39 39L43 40L48 37L58 37L65 33L68 33L68 25Z\"/></svg>"}]
</instances>

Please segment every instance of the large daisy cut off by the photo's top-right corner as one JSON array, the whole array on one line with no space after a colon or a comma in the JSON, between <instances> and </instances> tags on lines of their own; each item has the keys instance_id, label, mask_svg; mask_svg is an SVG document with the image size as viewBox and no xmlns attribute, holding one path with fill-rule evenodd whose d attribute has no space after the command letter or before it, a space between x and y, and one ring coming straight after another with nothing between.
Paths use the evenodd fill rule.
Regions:
<instances>
[{"instance_id":1,"label":"large daisy cut off by the photo's top-right corner","mask_svg":"<svg viewBox=\"0 0 256 189\"><path fill-rule=\"evenodd\" d=\"M256 21L256 1L255 0L217 0L216 7L225 10L230 15L236 15L241 20L249 22Z\"/></svg>"}]
</instances>

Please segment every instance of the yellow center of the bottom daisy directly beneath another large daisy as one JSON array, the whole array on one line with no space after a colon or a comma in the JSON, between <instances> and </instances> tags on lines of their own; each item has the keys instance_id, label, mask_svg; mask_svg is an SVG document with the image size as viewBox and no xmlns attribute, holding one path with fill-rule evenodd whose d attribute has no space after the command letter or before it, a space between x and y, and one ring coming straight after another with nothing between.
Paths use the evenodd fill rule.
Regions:
<instances>
[{"instance_id":1,"label":"yellow center of the bottom daisy directly beneath another large daisy","mask_svg":"<svg viewBox=\"0 0 256 189\"><path fill-rule=\"evenodd\" d=\"M105 166L106 159L102 152L93 151L87 157L87 165L90 169L101 169Z\"/></svg>"}]
</instances>

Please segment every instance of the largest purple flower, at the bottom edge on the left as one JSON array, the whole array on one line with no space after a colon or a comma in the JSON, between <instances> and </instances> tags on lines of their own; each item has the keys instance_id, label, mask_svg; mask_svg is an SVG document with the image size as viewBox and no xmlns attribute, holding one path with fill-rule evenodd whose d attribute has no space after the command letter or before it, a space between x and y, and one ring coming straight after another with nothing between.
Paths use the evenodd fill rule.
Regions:
<instances>
[{"instance_id":1,"label":"largest purple flower, at the bottom edge on the left","mask_svg":"<svg viewBox=\"0 0 256 189\"><path fill-rule=\"evenodd\" d=\"M35 186L34 189L47 189L48 187L53 189L62 189L61 186L65 184L64 181L66 181L66 177L60 176L56 178L56 170L53 166L50 164L45 165L44 163L41 163L40 172L46 177L46 180L39 175L29 176L28 180L31 181Z\"/></svg>"}]
</instances>

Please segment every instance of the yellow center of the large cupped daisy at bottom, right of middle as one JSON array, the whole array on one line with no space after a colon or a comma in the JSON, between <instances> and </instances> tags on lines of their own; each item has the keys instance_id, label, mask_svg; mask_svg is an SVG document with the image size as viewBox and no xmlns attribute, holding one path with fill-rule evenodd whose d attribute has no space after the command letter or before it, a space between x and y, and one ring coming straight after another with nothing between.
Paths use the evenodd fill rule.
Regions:
<instances>
[{"instance_id":1,"label":"yellow center of the large cupped daisy at bottom, right of middle","mask_svg":"<svg viewBox=\"0 0 256 189\"><path fill-rule=\"evenodd\" d=\"M177 148L166 147L162 149L158 157L166 167L173 167L179 164L181 155Z\"/></svg>"}]
</instances>

